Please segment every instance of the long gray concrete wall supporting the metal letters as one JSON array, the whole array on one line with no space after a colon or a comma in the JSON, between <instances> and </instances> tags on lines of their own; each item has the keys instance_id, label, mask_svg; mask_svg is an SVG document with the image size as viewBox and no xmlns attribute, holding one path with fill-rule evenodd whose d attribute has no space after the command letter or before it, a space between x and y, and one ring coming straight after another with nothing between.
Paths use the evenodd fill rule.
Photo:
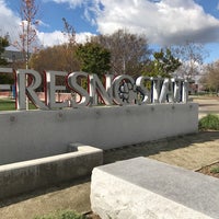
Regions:
<instances>
[{"instance_id":1,"label":"long gray concrete wall supporting the metal letters","mask_svg":"<svg viewBox=\"0 0 219 219\"><path fill-rule=\"evenodd\" d=\"M197 129L195 103L3 112L0 164L65 153L70 142L110 149Z\"/></svg>"}]
</instances>

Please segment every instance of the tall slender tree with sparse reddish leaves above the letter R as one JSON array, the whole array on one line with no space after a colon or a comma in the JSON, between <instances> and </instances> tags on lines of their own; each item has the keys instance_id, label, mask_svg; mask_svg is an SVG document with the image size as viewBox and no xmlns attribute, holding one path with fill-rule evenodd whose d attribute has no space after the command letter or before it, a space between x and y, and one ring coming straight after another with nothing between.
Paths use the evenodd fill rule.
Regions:
<instances>
[{"instance_id":1,"label":"tall slender tree with sparse reddish leaves above the letter R","mask_svg":"<svg viewBox=\"0 0 219 219\"><path fill-rule=\"evenodd\" d=\"M19 34L20 38L12 45L23 53L26 69L28 68L30 53L36 48L36 27L39 23L36 19L38 5L35 0L21 0L21 33Z\"/></svg>"}]
</instances>

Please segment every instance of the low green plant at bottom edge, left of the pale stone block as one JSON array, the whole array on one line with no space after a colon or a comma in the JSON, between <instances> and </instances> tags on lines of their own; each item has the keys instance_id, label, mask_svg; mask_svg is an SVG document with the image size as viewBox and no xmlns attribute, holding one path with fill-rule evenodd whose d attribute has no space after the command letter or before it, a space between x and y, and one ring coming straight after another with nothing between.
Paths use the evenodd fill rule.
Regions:
<instances>
[{"instance_id":1,"label":"low green plant at bottom edge, left of the pale stone block","mask_svg":"<svg viewBox=\"0 0 219 219\"><path fill-rule=\"evenodd\" d=\"M46 216L37 216L34 219L85 219L85 217L72 210L58 210Z\"/></svg>"}]
</instances>

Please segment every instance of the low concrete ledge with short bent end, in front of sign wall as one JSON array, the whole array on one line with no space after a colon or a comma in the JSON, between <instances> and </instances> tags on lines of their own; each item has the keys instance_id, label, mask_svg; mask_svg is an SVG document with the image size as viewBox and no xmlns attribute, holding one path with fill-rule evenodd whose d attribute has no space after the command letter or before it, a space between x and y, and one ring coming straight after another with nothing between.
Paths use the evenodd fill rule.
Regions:
<instances>
[{"instance_id":1,"label":"low concrete ledge with short bent end, in front of sign wall","mask_svg":"<svg viewBox=\"0 0 219 219\"><path fill-rule=\"evenodd\" d=\"M91 174L103 163L103 151L71 143L71 151L0 166L0 199Z\"/></svg>"}]
</instances>

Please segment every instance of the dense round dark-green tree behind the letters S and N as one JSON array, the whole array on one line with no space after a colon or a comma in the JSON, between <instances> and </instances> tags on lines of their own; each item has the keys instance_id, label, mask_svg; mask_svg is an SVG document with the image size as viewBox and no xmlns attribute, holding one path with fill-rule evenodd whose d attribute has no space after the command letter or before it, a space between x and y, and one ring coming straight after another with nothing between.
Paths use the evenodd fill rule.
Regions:
<instances>
[{"instance_id":1,"label":"dense round dark-green tree behind the letters S and N","mask_svg":"<svg viewBox=\"0 0 219 219\"><path fill-rule=\"evenodd\" d=\"M103 76L111 69L111 53L97 43L79 45L76 51L81 61L81 70Z\"/></svg>"}]
</instances>

